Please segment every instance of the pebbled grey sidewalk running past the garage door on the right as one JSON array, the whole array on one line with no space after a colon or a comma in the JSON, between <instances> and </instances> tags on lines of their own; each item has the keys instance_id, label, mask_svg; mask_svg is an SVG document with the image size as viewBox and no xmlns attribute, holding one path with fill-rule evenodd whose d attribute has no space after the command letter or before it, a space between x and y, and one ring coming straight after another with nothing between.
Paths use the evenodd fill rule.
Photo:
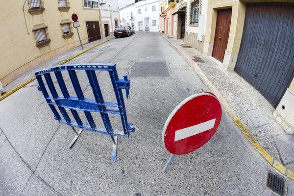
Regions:
<instances>
[{"instance_id":1,"label":"pebbled grey sidewalk running past the garage door on the right","mask_svg":"<svg viewBox=\"0 0 294 196\"><path fill-rule=\"evenodd\" d=\"M212 60L201 52L193 48L182 47L184 42L176 40L167 34L160 33L172 46L185 55L184 59L191 62L195 57L200 58L203 62L195 62L212 82L212 84L225 98L231 109L245 125L251 135L257 142L275 159L281 162L274 138L277 136L294 138L294 135L287 135L273 117L274 108L268 100L264 98L254 87L252 87L245 79L233 71L224 70L221 65ZM193 62L193 61L192 61ZM194 63L194 62L193 62ZM269 124L255 128L245 110L259 108L262 114L269 121ZM288 159L294 159L287 155ZM285 157L284 157L285 158ZM287 169L294 171L294 163L286 165Z\"/></svg>"}]
</instances>

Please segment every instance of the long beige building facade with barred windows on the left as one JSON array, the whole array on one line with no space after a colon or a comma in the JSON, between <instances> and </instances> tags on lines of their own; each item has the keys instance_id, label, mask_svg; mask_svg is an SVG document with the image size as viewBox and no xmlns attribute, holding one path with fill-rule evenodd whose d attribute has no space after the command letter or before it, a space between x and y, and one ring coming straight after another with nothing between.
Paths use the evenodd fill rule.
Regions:
<instances>
[{"instance_id":1,"label":"long beige building facade with barred windows on the left","mask_svg":"<svg viewBox=\"0 0 294 196\"><path fill-rule=\"evenodd\" d=\"M100 6L109 7L105 0L3 1L0 12L0 81L3 86L50 58L80 46L72 24L73 13L78 16L82 44L105 37ZM115 10L106 8L111 14L106 16L109 35L115 20L119 20L118 7L112 8Z\"/></svg>"}]
</instances>

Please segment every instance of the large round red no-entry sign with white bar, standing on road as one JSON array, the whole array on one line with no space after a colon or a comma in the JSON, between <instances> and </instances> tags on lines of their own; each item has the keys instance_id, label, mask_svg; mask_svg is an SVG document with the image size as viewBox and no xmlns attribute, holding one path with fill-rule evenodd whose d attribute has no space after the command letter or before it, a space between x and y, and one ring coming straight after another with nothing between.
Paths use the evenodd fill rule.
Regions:
<instances>
[{"instance_id":1,"label":"large round red no-entry sign with white bar, standing on road","mask_svg":"<svg viewBox=\"0 0 294 196\"><path fill-rule=\"evenodd\" d=\"M188 154L206 144L221 123L221 104L212 93L183 100L166 121L162 142L169 152Z\"/></svg>"}]
</instances>

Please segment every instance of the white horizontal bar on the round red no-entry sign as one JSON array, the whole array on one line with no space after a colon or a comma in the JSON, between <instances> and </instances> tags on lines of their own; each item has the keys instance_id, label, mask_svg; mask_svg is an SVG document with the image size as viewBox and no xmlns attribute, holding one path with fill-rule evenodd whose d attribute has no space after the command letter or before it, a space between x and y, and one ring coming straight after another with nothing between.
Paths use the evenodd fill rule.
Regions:
<instances>
[{"instance_id":1,"label":"white horizontal bar on the round red no-entry sign","mask_svg":"<svg viewBox=\"0 0 294 196\"><path fill-rule=\"evenodd\" d=\"M213 119L204 123L196 124L194 126L177 130L175 131L175 134L174 134L174 141L179 141L179 140L197 135L209 129L212 129L215 123L216 123L216 119Z\"/></svg>"}]
</instances>

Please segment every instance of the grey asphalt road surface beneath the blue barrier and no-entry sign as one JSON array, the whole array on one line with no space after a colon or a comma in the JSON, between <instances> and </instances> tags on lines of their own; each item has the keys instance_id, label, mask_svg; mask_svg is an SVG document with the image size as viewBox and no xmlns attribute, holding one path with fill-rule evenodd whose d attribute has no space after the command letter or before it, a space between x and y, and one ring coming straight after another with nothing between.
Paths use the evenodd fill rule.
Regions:
<instances>
[{"instance_id":1,"label":"grey asphalt road surface beneath the blue barrier and no-entry sign","mask_svg":"<svg viewBox=\"0 0 294 196\"><path fill-rule=\"evenodd\" d=\"M127 116L140 131L119 139L114 164L107 135L84 131L67 149L74 133L53 119L33 81L0 101L1 196L274 195L265 187L267 171L272 169L225 110L213 138L214 154L208 142L193 153L175 156L167 172L161 173L170 156L161 142L165 121L198 88L209 89L158 33L137 32L112 39L69 63L86 62L117 63L119 76L129 75ZM142 62L160 62L166 69L153 73L157 77L144 76L136 67ZM85 97L93 98L86 74L77 75ZM108 73L97 75L104 100L114 101ZM73 93L70 80L66 84ZM120 128L119 120L111 119Z\"/></svg>"}]
</instances>

